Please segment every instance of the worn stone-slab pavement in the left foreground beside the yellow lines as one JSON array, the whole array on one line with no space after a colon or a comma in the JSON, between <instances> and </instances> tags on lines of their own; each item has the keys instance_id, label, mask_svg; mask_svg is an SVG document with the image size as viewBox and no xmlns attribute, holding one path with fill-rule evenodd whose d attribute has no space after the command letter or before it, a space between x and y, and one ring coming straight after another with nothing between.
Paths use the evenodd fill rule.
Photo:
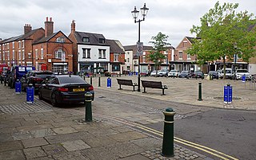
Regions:
<instances>
[{"instance_id":1,"label":"worn stone-slab pavement in the left foreground beside the yellow lines","mask_svg":"<svg viewBox=\"0 0 256 160\"><path fill-rule=\"evenodd\" d=\"M98 115L104 107L95 109L93 122L85 123L81 109L51 107L37 97L28 104L26 93L15 94L0 84L0 159L210 159L177 144L173 158L162 157L162 139L127 126L127 120ZM159 115L162 109L146 111Z\"/></svg>"}]
</instances>

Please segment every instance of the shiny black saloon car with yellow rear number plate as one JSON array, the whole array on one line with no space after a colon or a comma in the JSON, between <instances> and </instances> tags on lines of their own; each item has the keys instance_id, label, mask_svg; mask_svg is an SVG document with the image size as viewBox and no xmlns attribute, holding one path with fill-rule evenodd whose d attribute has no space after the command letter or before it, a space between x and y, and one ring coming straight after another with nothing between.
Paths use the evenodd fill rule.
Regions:
<instances>
[{"instance_id":1,"label":"shiny black saloon car with yellow rear number plate","mask_svg":"<svg viewBox=\"0 0 256 160\"><path fill-rule=\"evenodd\" d=\"M85 102L86 92L90 92L94 100L94 87L80 76L55 75L42 82L38 89L38 98L50 100L56 107L60 103Z\"/></svg>"}]
</instances>

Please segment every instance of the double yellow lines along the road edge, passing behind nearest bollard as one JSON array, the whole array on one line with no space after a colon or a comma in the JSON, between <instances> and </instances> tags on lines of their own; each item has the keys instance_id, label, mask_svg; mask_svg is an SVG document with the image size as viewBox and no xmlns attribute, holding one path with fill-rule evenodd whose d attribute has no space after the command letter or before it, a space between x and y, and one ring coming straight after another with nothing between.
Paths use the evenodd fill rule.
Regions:
<instances>
[{"instance_id":1,"label":"double yellow lines along the road edge, passing behind nearest bollard","mask_svg":"<svg viewBox=\"0 0 256 160\"><path fill-rule=\"evenodd\" d=\"M154 134L154 135L158 135L160 137L163 136L163 133L161 131L157 131L157 130L154 130L153 128L150 128L150 127L145 127L141 124L138 124L138 123L131 123L131 122L128 122L126 121L125 119L119 119L117 117L110 117L110 116L107 116L107 115L99 115L99 114L94 114L94 115L98 115L100 117L104 117L106 119L114 119L116 121L118 121L119 123L125 123L131 127L137 127L139 129L141 129L142 131L147 131L151 134ZM185 145L185 146L190 146L192 148L195 148L197 150L202 150L203 152L206 152L207 154L211 154L211 155L214 155L215 157L218 157L218 158L221 158L223 160L230 160L230 159L233 159L233 160L238 160L238 158L234 158L230 155L227 155L227 154L224 154L218 150L214 150L214 149L211 149L207 146L202 146L202 145L199 145L197 143L194 143L194 142L190 142L190 141L186 141L184 139L179 139L177 137L174 137L174 142L178 142L182 145Z\"/></svg>"}]
</instances>

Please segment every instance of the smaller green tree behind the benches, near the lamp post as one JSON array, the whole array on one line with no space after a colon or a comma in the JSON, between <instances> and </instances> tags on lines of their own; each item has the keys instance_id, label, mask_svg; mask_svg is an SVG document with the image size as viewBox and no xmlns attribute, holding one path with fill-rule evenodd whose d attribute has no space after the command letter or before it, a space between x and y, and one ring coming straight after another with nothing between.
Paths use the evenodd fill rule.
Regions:
<instances>
[{"instance_id":1,"label":"smaller green tree behind the benches, near the lamp post","mask_svg":"<svg viewBox=\"0 0 256 160\"><path fill-rule=\"evenodd\" d=\"M157 36L151 37L151 40L153 41L149 42L154 45L154 50L150 51L150 54L147 56L147 60L153 61L157 69L162 64L163 60L166 59L163 52L166 51L167 45L170 45L170 43L167 42L167 39L168 36L159 32Z\"/></svg>"}]
</instances>

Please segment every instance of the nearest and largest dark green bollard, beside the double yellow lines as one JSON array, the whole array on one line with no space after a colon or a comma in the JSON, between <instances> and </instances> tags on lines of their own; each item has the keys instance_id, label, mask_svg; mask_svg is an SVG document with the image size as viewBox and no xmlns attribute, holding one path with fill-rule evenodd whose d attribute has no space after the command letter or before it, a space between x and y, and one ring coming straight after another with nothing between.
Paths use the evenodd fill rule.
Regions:
<instances>
[{"instance_id":1,"label":"nearest and largest dark green bollard, beside the double yellow lines","mask_svg":"<svg viewBox=\"0 0 256 160\"><path fill-rule=\"evenodd\" d=\"M163 114L165 120L161 154L164 157L174 157L174 115L176 112L173 108L167 107Z\"/></svg>"}]
</instances>

